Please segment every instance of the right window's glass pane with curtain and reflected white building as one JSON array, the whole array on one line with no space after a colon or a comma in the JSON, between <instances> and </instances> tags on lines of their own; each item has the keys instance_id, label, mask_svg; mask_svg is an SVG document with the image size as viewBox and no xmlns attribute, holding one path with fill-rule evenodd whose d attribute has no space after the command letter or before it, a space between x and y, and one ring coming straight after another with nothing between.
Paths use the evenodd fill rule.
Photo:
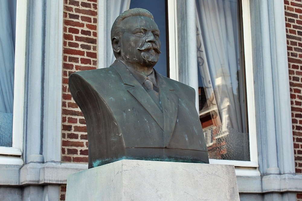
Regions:
<instances>
[{"instance_id":1,"label":"right window's glass pane with curtain and reflected white building","mask_svg":"<svg viewBox=\"0 0 302 201\"><path fill-rule=\"evenodd\" d=\"M237 0L196 0L199 116L211 159L249 161Z\"/></svg>"}]
</instances>

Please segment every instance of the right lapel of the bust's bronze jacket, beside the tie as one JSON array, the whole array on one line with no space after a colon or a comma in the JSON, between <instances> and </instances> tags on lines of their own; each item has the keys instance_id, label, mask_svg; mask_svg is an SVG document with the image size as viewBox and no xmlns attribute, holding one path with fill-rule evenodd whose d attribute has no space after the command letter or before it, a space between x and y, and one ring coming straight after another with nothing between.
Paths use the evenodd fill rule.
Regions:
<instances>
[{"instance_id":1,"label":"right lapel of the bust's bronze jacket, beside the tie","mask_svg":"<svg viewBox=\"0 0 302 201\"><path fill-rule=\"evenodd\" d=\"M169 145L178 110L178 96L174 88L166 82L168 78L156 73L159 85L159 98L162 104L162 111L164 115L164 139L165 147Z\"/></svg>"}]
</instances>

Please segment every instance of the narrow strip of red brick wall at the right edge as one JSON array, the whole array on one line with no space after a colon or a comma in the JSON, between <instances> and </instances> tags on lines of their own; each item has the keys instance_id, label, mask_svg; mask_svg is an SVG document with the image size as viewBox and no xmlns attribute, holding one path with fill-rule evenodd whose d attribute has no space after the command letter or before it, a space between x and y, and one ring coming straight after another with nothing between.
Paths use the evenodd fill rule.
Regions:
<instances>
[{"instance_id":1,"label":"narrow strip of red brick wall at the right edge","mask_svg":"<svg viewBox=\"0 0 302 201\"><path fill-rule=\"evenodd\" d=\"M302 0L284 0L296 174L302 174ZM302 201L302 194L297 194Z\"/></svg>"}]
</instances>

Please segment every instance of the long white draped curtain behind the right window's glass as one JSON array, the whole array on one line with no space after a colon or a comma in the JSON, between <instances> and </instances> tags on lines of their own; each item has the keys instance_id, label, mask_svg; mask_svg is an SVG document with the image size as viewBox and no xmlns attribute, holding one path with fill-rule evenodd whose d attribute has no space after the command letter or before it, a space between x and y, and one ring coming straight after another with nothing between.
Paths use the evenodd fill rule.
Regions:
<instances>
[{"instance_id":1,"label":"long white draped curtain behind the right window's glass","mask_svg":"<svg viewBox=\"0 0 302 201\"><path fill-rule=\"evenodd\" d=\"M221 121L221 125L214 125L208 131L216 134L216 138L227 135L226 146L232 147L228 148L229 155L225 159L248 160L237 1L196 0L196 7L198 64L208 102L217 104ZM213 134L213 130L216 133ZM244 144L244 147L236 147L236 144ZM236 153L241 148L246 154Z\"/></svg>"}]
</instances>

